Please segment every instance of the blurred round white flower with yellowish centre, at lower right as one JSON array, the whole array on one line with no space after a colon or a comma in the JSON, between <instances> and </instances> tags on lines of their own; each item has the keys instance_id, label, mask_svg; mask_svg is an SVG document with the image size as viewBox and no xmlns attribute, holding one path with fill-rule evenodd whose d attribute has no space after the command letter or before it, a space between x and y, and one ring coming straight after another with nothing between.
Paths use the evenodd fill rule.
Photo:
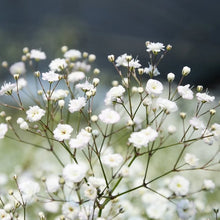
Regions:
<instances>
[{"instance_id":1,"label":"blurred round white flower with yellowish centre, at lower right","mask_svg":"<svg viewBox=\"0 0 220 220\"><path fill-rule=\"evenodd\" d=\"M174 176L170 181L169 189L177 196L184 196L189 191L189 181L182 176Z\"/></svg>"}]
</instances>

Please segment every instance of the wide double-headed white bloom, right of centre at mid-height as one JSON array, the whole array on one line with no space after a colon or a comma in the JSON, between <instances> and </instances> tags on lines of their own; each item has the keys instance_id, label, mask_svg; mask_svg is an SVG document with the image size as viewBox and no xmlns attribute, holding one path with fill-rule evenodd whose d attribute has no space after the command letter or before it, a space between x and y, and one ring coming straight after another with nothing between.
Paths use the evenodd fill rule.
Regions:
<instances>
[{"instance_id":1,"label":"wide double-headed white bloom, right of centre at mid-height","mask_svg":"<svg viewBox=\"0 0 220 220\"><path fill-rule=\"evenodd\" d=\"M157 136L157 131L151 127L147 127L141 131L131 133L129 142L137 148L147 147L148 143L154 141Z\"/></svg>"}]
</instances>

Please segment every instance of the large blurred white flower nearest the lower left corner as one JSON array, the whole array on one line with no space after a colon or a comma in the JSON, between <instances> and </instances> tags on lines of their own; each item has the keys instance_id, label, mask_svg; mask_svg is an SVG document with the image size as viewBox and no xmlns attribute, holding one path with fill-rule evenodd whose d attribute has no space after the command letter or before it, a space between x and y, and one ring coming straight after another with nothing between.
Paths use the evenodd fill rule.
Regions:
<instances>
[{"instance_id":1,"label":"large blurred white flower nearest the lower left corner","mask_svg":"<svg viewBox=\"0 0 220 220\"><path fill-rule=\"evenodd\" d=\"M33 180L24 179L19 183L19 189L25 203L30 203L34 199L36 193L40 191L40 186Z\"/></svg>"}]
</instances>

